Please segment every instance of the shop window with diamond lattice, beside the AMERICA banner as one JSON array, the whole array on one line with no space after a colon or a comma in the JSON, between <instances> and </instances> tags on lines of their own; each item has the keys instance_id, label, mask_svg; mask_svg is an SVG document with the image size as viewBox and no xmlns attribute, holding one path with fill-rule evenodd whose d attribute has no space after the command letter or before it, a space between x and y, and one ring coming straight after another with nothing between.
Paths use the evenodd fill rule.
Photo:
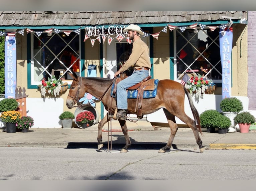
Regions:
<instances>
[{"instance_id":1,"label":"shop window with diamond lattice, beside the AMERICA banner","mask_svg":"<svg viewBox=\"0 0 256 191\"><path fill-rule=\"evenodd\" d=\"M214 83L220 83L219 29L176 30L176 72L177 80L187 73L190 77L200 74Z\"/></svg>"}]
</instances>

